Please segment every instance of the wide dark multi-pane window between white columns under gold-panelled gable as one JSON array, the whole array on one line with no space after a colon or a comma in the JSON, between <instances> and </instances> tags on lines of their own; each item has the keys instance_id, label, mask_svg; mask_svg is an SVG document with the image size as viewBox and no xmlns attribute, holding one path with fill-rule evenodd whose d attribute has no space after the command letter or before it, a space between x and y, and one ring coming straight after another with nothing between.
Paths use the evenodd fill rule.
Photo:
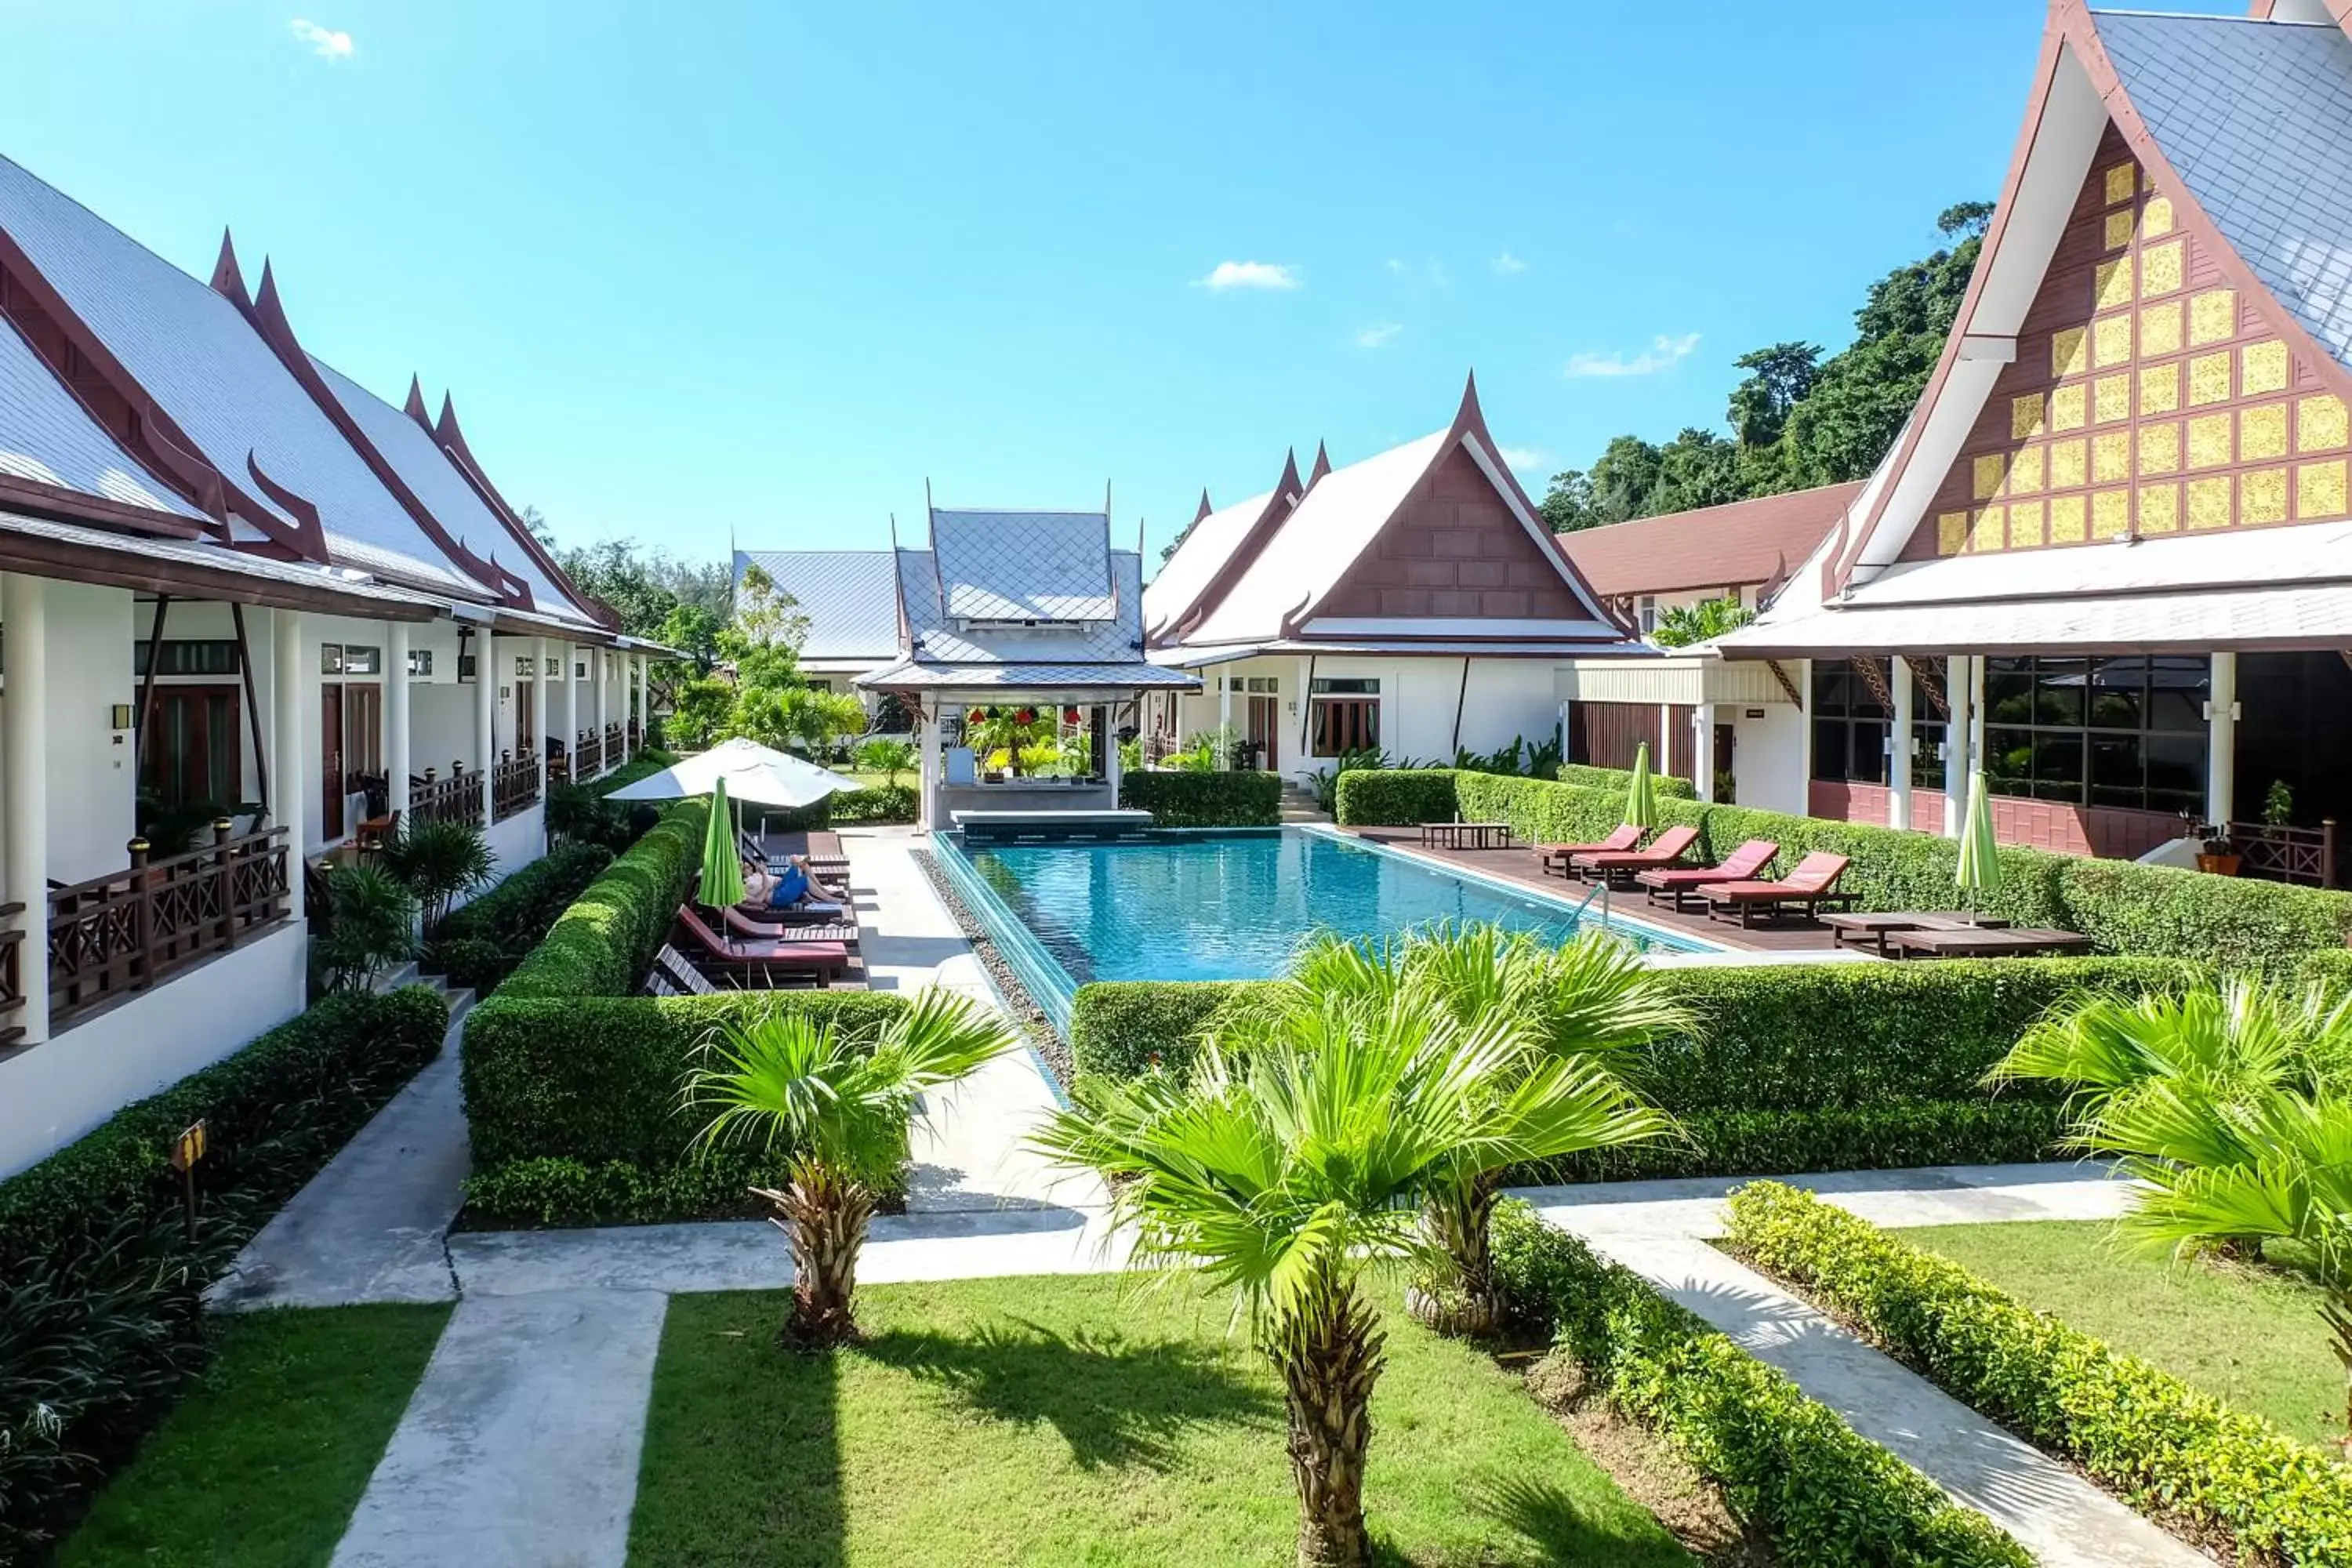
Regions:
<instances>
[{"instance_id":1,"label":"wide dark multi-pane window between white columns under gold-panelled gable","mask_svg":"<svg viewBox=\"0 0 2352 1568\"><path fill-rule=\"evenodd\" d=\"M1985 785L2067 806L2201 811L2209 691L2199 656L1987 658Z\"/></svg>"}]
</instances>

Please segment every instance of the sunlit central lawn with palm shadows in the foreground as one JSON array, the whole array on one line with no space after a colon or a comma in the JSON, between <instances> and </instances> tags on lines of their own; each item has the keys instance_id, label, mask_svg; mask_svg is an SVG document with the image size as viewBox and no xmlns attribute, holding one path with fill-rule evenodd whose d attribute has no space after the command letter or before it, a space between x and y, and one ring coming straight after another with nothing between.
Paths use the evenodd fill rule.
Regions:
<instances>
[{"instance_id":1,"label":"sunlit central lawn with palm shadows in the foreground","mask_svg":"<svg viewBox=\"0 0 2352 1568\"><path fill-rule=\"evenodd\" d=\"M1367 1512L1385 1563L1691 1559L1486 1354L1388 1312ZM858 1291L868 1340L776 1349L779 1293L680 1295L630 1568L1287 1563L1282 1396L1225 1302L1136 1279Z\"/></svg>"}]
</instances>

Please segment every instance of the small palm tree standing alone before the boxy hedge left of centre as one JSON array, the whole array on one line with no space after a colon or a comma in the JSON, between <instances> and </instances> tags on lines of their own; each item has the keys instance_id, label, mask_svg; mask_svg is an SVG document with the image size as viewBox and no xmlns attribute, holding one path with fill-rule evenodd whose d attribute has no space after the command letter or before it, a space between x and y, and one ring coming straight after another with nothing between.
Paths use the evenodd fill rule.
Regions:
<instances>
[{"instance_id":1,"label":"small palm tree standing alone before the boxy hedge left of centre","mask_svg":"<svg viewBox=\"0 0 2352 1568\"><path fill-rule=\"evenodd\" d=\"M722 1025L687 1077L689 1107L713 1117L703 1152L741 1145L786 1157L776 1208L793 1248L793 1309L781 1340L828 1349L856 1338L858 1251L875 1204L908 1161L908 1119L927 1088L953 1084L1016 1044L1004 1020L927 990L880 1034L856 1037L804 1013Z\"/></svg>"}]
</instances>

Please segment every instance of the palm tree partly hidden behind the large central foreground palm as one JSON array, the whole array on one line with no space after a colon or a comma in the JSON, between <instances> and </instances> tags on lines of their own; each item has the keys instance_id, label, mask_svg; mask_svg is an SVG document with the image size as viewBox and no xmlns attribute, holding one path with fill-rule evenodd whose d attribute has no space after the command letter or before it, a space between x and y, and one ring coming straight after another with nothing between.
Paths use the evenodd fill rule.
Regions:
<instances>
[{"instance_id":1,"label":"palm tree partly hidden behind the large central foreground palm","mask_svg":"<svg viewBox=\"0 0 2352 1568\"><path fill-rule=\"evenodd\" d=\"M1616 1063L1653 1039L1691 1027L1691 1016L1658 985L1656 971L1621 940L1592 931L1552 947L1524 931L1439 924L1395 943L1319 938L1301 950L1270 1006L1296 1009L1317 994L1430 1006L1456 1025L1515 1018L1529 1072L1557 1074L1552 1093L1578 1114L1522 1128L1541 1147L1524 1159L1665 1138L1675 1124L1625 1086ZM1491 1220L1505 1164L1456 1159L1423 1211L1435 1246L1406 1295L1416 1319L1439 1333L1491 1333L1503 1319L1494 1281Z\"/></svg>"}]
</instances>

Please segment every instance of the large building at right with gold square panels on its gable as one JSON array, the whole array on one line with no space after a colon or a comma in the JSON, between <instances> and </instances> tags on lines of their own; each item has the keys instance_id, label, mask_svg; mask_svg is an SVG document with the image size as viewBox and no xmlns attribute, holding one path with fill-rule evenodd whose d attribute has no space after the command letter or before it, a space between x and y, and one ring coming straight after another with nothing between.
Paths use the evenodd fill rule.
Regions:
<instances>
[{"instance_id":1,"label":"large building at right with gold square panels on its gable","mask_svg":"<svg viewBox=\"0 0 2352 1568\"><path fill-rule=\"evenodd\" d=\"M1731 658L1802 693L1740 799L2343 879L2352 19L2056 0L1919 407ZM2197 835L2211 837L2211 835Z\"/></svg>"}]
</instances>

